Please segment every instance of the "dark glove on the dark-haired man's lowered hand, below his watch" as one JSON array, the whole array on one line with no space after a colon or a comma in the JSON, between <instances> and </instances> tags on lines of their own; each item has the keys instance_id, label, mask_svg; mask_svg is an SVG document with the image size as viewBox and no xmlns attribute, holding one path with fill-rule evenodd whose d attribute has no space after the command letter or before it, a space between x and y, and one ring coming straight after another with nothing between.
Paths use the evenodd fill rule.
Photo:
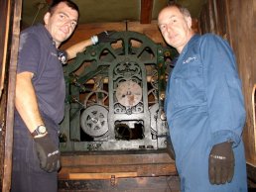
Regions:
<instances>
[{"instance_id":1,"label":"dark glove on the dark-haired man's lowered hand, below his watch","mask_svg":"<svg viewBox=\"0 0 256 192\"><path fill-rule=\"evenodd\" d=\"M61 155L59 148L53 143L47 134L41 138L34 138L36 150L40 160L40 167L47 172L58 171L61 167Z\"/></svg>"}]
</instances>

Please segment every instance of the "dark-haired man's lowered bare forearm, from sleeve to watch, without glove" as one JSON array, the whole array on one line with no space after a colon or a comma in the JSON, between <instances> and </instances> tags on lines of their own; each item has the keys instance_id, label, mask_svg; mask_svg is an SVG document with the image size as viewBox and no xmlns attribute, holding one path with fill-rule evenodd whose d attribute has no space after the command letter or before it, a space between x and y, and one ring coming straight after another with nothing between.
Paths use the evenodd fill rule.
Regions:
<instances>
[{"instance_id":1,"label":"dark-haired man's lowered bare forearm, from sleeve to watch, without glove","mask_svg":"<svg viewBox=\"0 0 256 192\"><path fill-rule=\"evenodd\" d=\"M37 97L32 84L32 72L17 74L15 105L30 133L39 125L44 125L41 118Z\"/></svg>"}]
</instances>

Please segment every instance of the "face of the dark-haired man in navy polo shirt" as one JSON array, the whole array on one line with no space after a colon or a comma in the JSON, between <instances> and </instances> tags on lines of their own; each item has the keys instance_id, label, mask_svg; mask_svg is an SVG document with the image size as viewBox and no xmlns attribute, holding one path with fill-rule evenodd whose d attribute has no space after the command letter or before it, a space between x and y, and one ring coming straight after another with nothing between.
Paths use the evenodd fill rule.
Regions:
<instances>
[{"instance_id":1,"label":"face of the dark-haired man in navy polo shirt","mask_svg":"<svg viewBox=\"0 0 256 192\"><path fill-rule=\"evenodd\" d=\"M77 24L77 19L77 11L68 7L64 2L60 3L52 14L46 13L45 27L56 42L57 48L70 37Z\"/></svg>"}]
</instances>

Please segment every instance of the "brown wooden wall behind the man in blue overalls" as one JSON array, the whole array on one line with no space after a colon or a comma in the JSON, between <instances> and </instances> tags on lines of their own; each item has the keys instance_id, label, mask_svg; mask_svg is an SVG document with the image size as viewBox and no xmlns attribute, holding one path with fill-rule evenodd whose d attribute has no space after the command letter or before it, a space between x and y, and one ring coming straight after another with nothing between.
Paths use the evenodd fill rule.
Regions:
<instances>
[{"instance_id":1,"label":"brown wooden wall behind the man in blue overalls","mask_svg":"<svg viewBox=\"0 0 256 192\"><path fill-rule=\"evenodd\" d=\"M247 163L256 167L254 86L256 84L256 1L208 0L198 25L202 34L212 32L234 49L243 84L246 124L243 132Z\"/></svg>"}]
</instances>

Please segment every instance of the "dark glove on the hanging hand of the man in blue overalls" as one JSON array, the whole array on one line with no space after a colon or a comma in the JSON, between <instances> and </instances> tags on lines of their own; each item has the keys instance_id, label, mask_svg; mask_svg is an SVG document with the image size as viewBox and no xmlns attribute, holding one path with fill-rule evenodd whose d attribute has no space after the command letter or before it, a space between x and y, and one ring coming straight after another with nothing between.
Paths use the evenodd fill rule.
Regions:
<instances>
[{"instance_id":1,"label":"dark glove on the hanging hand of the man in blue overalls","mask_svg":"<svg viewBox=\"0 0 256 192\"><path fill-rule=\"evenodd\" d=\"M231 182L234 175L234 152L232 143L213 145L208 158L208 175L211 184Z\"/></svg>"}]
</instances>

